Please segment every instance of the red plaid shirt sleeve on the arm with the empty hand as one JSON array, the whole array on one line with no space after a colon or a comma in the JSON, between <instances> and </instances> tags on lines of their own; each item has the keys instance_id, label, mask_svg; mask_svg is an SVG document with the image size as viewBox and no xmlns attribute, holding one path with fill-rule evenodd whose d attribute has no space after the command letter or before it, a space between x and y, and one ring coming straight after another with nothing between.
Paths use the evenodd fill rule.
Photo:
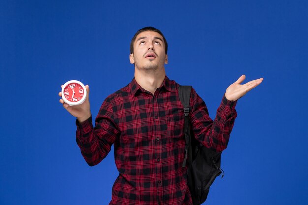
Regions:
<instances>
[{"instance_id":1,"label":"red plaid shirt sleeve on the arm with the empty hand","mask_svg":"<svg viewBox=\"0 0 308 205\"><path fill-rule=\"evenodd\" d=\"M227 100L224 95L213 121L209 117L209 112L204 101L192 88L190 98L192 112L190 118L192 133L196 140L205 147L217 152L226 149L234 120L237 116L235 110L236 103L237 101Z\"/></svg>"}]
</instances>

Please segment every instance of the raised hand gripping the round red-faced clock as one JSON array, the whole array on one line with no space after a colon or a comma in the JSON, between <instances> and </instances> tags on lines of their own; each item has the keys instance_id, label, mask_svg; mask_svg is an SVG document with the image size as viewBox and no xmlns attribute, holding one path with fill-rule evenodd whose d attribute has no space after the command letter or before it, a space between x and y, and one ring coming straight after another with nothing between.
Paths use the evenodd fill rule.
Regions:
<instances>
[{"instance_id":1,"label":"raised hand gripping the round red-faced clock","mask_svg":"<svg viewBox=\"0 0 308 205\"><path fill-rule=\"evenodd\" d=\"M63 85L61 85L61 88ZM91 116L90 112L90 102L89 102L89 86L85 86L87 89L87 96L85 102L80 105L69 106L64 103L64 100L61 98L59 102L63 104L63 107L74 117L77 117L79 122L87 120ZM59 92L59 97L62 97L61 92Z\"/></svg>"}]
</instances>

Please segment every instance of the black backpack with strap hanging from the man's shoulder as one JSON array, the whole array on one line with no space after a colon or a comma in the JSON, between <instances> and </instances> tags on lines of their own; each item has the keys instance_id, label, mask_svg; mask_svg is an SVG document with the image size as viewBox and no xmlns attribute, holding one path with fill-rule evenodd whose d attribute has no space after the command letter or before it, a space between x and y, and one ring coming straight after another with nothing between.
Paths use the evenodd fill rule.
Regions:
<instances>
[{"instance_id":1,"label":"black backpack with strap hanging from the man's shoulder","mask_svg":"<svg viewBox=\"0 0 308 205\"><path fill-rule=\"evenodd\" d=\"M189 120L189 101L191 86L180 86L179 97L184 107L185 114L185 158L182 167L186 166L188 154L188 187L191 193L193 205L202 204L209 193L210 186L215 178L222 173L220 168L221 152L215 152L199 143L194 137L191 137Z\"/></svg>"}]
</instances>

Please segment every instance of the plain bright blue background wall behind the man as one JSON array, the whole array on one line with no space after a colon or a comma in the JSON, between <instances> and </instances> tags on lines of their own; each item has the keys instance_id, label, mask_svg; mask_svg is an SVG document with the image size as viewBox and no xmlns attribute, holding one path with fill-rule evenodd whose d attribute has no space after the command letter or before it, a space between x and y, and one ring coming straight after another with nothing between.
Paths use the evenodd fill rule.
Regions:
<instances>
[{"instance_id":1,"label":"plain bright blue background wall behind the man","mask_svg":"<svg viewBox=\"0 0 308 205\"><path fill-rule=\"evenodd\" d=\"M0 205L109 203L113 149L86 164L58 92L89 84L96 117L133 78L129 43L144 26L164 33L168 77L192 85L212 118L240 75L264 78L237 104L225 177L205 204L307 205L307 0L1 0Z\"/></svg>"}]
</instances>

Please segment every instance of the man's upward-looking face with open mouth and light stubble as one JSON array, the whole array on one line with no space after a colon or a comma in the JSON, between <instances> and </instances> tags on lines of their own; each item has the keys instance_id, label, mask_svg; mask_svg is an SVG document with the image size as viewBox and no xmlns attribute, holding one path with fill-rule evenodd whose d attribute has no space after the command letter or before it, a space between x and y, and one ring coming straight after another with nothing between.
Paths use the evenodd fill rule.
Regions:
<instances>
[{"instance_id":1,"label":"man's upward-looking face with open mouth and light stubble","mask_svg":"<svg viewBox=\"0 0 308 205\"><path fill-rule=\"evenodd\" d=\"M153 31L139 33L134 42L134 52L129 55L130 63L138 69L156 70L168 63L163 37Z\"/></svg>"}]
</instances>

